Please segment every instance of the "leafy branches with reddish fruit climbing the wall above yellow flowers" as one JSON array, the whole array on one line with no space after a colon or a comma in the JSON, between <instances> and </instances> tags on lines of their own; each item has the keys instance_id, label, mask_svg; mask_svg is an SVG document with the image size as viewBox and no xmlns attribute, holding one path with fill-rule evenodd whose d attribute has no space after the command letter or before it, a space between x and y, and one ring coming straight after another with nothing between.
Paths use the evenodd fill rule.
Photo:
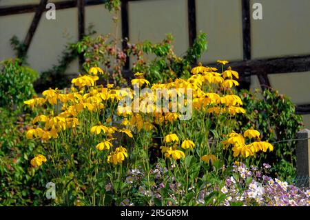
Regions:
<instances>
[{"instance_id":1,"label":"leafy branches with reddish fruit climbing the wall above yellow flowers","mask_svg":"<svg viewBox=\"0 0 310 220\"><path fill-rule=\"evenodd\" d=\"M191 64L207 50L206 38L207 35L201 33L183 57L178 57L174 53L172 34L167 34L160 43L152 43L148 40L136 44L127 43L125 50L118 47L121 42L112 34L98 37L85 36L82 41L72 45L72 48L77 53L83 54L85 71L93 66L100 66L105 72L104 79L112 79L114 84L126 84L122 70L127 57L134 60L132 66L134 73L143 72L145 79L154 83L177 77L188 78Z\"/></svg>"}]
</instances>

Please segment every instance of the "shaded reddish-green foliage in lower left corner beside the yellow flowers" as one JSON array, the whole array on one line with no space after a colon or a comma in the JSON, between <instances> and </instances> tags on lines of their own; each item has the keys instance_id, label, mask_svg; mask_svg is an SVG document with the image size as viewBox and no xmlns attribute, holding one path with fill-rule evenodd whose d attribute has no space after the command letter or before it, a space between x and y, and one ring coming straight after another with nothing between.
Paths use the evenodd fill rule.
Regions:
<instances>
[{"instance_id":1,"label":"shaded reddish-green foliage in lower left corner beside the yellow flowers","mask_svg":"<svg viewBox=\"0 0 310 220\"><path fill-rule=\"evenodd\" d=\"M39 206L44 201L44 172L30 167L38 144L25 138L29 116L0 108L0 206ZM36 149L36 150L34 150Z\"/></svg>"}]
</instances>

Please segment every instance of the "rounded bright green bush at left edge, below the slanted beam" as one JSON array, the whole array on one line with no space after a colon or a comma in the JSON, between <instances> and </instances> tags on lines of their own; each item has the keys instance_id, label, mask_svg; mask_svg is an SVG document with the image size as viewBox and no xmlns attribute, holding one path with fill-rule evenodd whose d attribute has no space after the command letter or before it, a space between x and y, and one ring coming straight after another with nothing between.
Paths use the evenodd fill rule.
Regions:
<instances>
[{"instance_id":1,"label":"rounded bright green bush at left edge, below the slanted beam","mask_svg":"<svg viewBox=\"0 0 310 220\"><path fill-rule=\"evenodd\" d=\"M23 101L35 94L33 81L38 73L21 66L19 59L7 59L0 63L0 106L19 108Z\"/></svg>"}]
</instances>

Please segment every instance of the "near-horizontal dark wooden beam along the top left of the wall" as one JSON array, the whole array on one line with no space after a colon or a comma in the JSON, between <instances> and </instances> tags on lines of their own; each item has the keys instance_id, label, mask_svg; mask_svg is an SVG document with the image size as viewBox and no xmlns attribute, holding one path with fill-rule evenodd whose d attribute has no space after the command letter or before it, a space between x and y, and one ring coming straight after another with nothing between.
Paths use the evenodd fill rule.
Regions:
<instances>
[{"instance_id":1,"label":"near-horizontal dark wooden beam along the top left of the wall","mask_svg":"<svg viewBox=\"0 0 310 220\"><path fill-rule=\"evenodd\" d=\"M105 3L105 0L88 0L85 1L85 6L96 6ZM63 10L66 8L75 8L76 1L59 1L54 3L56 6L56 10ZM35 12L37 10L37 4L29 4L23 6L4 6L0 7L0 16L6 16L11 14L23 14ZM44 9L47 11L48 9Z\"/></svg>"}]
</instances>

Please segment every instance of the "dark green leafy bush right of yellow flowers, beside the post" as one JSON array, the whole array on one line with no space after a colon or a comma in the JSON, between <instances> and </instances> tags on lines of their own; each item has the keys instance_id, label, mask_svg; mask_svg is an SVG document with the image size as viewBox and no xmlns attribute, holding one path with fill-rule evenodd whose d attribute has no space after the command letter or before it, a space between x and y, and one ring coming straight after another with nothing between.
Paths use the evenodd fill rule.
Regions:
<instances>
[{"instance_id":1,"label":"dark green leafy bush right of yellow flowers, beside the post","mask_svg":"<svg viewBox=\"0 0 310 220\"><path fill-rule=\"evenodd\" d=\"M261 163L271 164L274 175L293 181L296 171L296 141L284 140L296 139L296 133L302 128L302 116L295 113L295 105L288 97L275 90L256 90L253 93L242 90L240 97L247 110L245 114L238 116L240 125L245 125L244 129L254 126L260 131L260 138L269 140L270 143L283 141L273 143L273 152L262 154Z\"/></svg>"}]
</instances>

